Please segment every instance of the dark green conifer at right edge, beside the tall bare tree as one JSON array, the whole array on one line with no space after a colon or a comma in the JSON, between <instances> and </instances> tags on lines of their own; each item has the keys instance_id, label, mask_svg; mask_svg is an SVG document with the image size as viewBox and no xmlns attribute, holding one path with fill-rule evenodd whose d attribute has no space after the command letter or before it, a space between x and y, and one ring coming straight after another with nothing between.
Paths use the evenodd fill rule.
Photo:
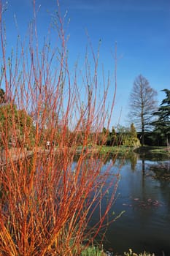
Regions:
<instances>
[{"instance_id":1,"label":"dark green conifer at right edge, beside the tall bare tree","mask_svg":"<svg viewBox=\"0 0 170 256\"><path fill-rule=\"evenodd\" d=\"M157 116L157 120L151 124L154 127L153 138L158 145L167 145L170 142L170 90L164 89L166 98L161 102L154 116Z\"/></svg>"}]
</instances>

